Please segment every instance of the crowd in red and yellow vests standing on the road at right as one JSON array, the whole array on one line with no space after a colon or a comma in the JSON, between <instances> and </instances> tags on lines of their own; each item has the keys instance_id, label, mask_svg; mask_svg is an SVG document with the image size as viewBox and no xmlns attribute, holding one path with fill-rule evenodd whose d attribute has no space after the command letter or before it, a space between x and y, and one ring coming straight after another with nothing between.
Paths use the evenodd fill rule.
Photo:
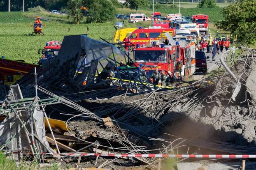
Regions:
<instances>
[{"instance_id":1,"label":"crowd in red and yellow vests standing on the road at right","mask_svg":"<svg viewBox=\"0 0 256 170\"><path fill-rule=\"evenodd\" d=\"M205 53L212 53L212 61L215 61L216 53L219 54L219 51L223 51L224 47L227 51L230 46L230 38L229 36L219 37L218 34L213 38L211 34L207 36L203 34L202 37L198 37L198 44L196 46L196 50L204 51Z\"/></svg>"}]
</instances>

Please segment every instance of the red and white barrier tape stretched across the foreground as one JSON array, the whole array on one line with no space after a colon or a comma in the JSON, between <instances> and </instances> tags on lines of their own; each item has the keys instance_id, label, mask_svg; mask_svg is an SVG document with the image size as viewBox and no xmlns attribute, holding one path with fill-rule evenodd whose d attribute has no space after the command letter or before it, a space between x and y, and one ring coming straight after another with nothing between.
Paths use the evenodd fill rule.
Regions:
<instances>
[{"instance_id":1,"label":"red and white barrier tape stretched across the foreground","mask_svg":"<svg viewBox=\"0 0 256 170\"><path fill-rule=\"evenodd\" d=\"M7 152L8 154L20 154L19 152ZM32 154L26 153L24 154ZM51 153L35 153L51 154ZM94 153L63 153L51 155L68 156L109 156L109 157L141 157L141 158L256 158L256 155L185 155L185 154L94 154Z\"/></svg>"}]
</instances>

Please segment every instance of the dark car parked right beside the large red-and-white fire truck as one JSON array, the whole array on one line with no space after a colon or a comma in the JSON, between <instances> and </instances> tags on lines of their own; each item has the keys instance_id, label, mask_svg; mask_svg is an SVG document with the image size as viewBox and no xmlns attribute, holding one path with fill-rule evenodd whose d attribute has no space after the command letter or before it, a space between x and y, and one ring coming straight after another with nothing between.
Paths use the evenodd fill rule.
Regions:
<instances>
[{"instance_id":1,"label":"dark car parked right beside the large red-and-white fire truck","mask_svg":"<svg viewBox=\"0 0 256 170\"><path fill-rule=\"evenodd\" d=\"M205 56L203 51L195 51L195 73L196 74L207 74L207 61L209 56Z\"/></svg>"}]
</instances>

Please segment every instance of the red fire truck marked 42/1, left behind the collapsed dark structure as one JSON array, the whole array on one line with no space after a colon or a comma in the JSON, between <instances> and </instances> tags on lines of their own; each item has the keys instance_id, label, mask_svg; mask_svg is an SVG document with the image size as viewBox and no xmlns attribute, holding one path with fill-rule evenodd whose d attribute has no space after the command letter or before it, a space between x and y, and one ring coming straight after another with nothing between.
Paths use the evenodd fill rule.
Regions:
<instances>
[{"instance_id":1,"label":"red fire truck marked 42/1, left behind the collapsed dark structure","mask_svg":"<svg viewBox=\"0 0 256 170\"><path fill-rule=\"evenodd\" d=\"M61 49L61 41L49 41L43 50L38 50L38 54L42 54L42 59L50 58L58 55Z\"/></svg>"}]
</instances>

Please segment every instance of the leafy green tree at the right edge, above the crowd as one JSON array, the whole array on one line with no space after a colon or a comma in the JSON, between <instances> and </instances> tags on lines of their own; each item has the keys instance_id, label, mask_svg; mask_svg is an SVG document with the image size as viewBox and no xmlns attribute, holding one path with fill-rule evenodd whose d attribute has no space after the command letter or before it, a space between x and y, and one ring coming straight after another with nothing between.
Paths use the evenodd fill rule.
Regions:
<instances>
[{"instance_id":1,"label":"leafy green tree at the right edge, above the crowd","mask_svg":"<svg viewBox=\"0 0 256 170\"><path fill-rule=\"evenodd\" d=\"M215 25L218 29L235 34L237 39L247 44L256 42L256 0L241 0L222 10L223 21ZM248 38L248 39L247 39Z\"/></svg>"}]
</instances>

